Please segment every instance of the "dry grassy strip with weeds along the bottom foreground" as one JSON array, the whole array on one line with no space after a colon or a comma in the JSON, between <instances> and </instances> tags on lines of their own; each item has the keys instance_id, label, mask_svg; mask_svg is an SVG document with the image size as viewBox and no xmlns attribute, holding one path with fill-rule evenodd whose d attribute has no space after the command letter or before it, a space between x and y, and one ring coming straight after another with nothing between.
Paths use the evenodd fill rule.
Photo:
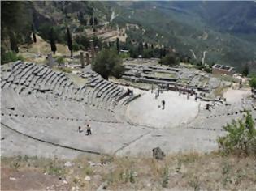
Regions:
<instances>
[{"instance_id":1,"label":"dry grassy strip with weeds along the bottom foreground","mask_svg":"<svg viewBox=\"0 0 256 191\"><path fill-rule=\"evenodd\" d=\"M30 171L54 175L84 190L96 190L102 182L106 182L106 189L111 190L253 190L256 184L253 157L189 153L169 155L163 161L95 156L74 159L72 167L65 167L65 162L60 159L2 158L1 168L20 174ZM86 176L90 177L89 181L85 180Z\"/></svg>"}]
</instances>

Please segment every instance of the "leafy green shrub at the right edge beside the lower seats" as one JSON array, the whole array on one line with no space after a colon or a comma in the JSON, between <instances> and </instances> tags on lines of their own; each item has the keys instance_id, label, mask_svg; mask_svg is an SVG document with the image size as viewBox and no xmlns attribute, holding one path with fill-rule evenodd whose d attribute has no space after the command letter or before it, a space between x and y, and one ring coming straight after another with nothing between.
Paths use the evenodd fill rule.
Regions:
<instances>
[{"instance_id":1,"label":"leafy green shrub at the right edge beside the lower seats","mask_svg":"<svg viewBox=\"0 0 256 191\"><path fill-rule=\"evenodd\" d=\"M254 119L249 112L244 119L223 127L228 135L218 139L219 148L224 154L256 155L256 129Z\"/></svg>"}]
</instances>

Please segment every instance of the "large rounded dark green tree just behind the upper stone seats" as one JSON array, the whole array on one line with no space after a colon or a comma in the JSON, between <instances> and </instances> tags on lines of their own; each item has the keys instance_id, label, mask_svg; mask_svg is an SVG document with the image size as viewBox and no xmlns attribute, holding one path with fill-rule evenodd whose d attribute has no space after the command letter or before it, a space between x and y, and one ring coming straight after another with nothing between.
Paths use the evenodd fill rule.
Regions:
<instances>
[{"instance_id":1,"label":"large rounded dark green tree just behind the upper stone seats","mask_svg":"<svg viewBox=\"0 0 256 191\"><path fill-rule=\"evenodd\" d=\"M104 79L108 79L109 76L120 78L124 73L122 59L116 51L110 49L103 49L97 54L93 60L92 68Z\"/></svg>"}]
</instances>

